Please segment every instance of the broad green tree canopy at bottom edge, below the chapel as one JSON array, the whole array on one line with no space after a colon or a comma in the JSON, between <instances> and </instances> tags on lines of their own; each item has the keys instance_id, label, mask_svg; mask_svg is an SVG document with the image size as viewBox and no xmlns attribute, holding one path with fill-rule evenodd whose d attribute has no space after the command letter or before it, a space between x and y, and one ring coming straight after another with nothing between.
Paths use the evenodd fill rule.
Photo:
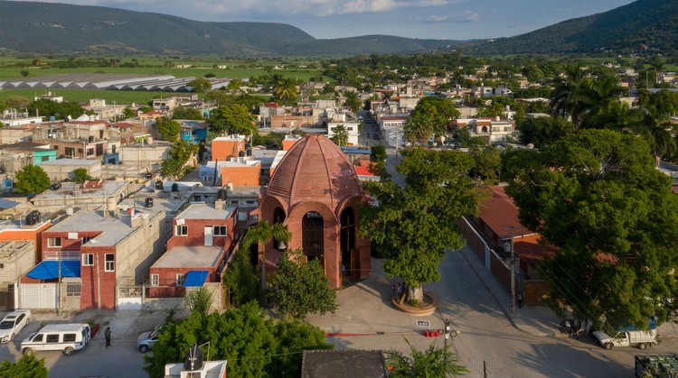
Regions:
<instances>
[{"instance_id":1,"label":"broad green tree canopy at bottom edge, below the chapel","mask_svg":"<svg viewBox=\"0 0 678 378\"><path fill-rule=\"evenodd\" d=\"M210 342L210 360L227 360L229 376L297 376L306 349L331 349L317 327L294 321L276 321L250 302L239 309L194 313L169 323L145 355L144 370L151 378L165 376L165 364L184 361L188 348ZM203 353L206 350L203 349Z\"/></svg>"}]
</instances>

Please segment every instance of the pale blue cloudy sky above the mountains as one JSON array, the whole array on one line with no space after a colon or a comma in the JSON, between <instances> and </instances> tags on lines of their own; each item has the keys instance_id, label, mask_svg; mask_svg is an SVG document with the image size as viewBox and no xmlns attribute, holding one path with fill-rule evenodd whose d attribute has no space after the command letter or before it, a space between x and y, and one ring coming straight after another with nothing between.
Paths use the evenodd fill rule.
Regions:
<instances>
[{"instance_id":1,"label":"pale blue cloudy sky above the mountains","mask_svg":"<svg viewBox=\"0 0 678 378\"><path fill-rule=\"evenodd\" d=\"M632 0L38 0L172 14L197 21L287 23L317 39L387 34L511 37Z\"/></svg>"}]
</instances>

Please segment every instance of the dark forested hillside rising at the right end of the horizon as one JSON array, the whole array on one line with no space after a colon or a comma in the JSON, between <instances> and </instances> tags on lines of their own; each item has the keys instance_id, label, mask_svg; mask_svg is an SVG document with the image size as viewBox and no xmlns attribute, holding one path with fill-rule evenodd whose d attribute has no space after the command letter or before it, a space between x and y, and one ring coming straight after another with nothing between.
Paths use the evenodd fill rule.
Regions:
<instances>
[{"instance_id":1,"label":"dark forested hillside rising at the right end of the horizon","mask_svg":"<svg viewBox=\"0 0 678 378\"><path fill-rule=\"evenodd\" d=\"M462 45L469 54L678 52L678 0L637 0L510 38Z\"/></svg>"}]
</instances>

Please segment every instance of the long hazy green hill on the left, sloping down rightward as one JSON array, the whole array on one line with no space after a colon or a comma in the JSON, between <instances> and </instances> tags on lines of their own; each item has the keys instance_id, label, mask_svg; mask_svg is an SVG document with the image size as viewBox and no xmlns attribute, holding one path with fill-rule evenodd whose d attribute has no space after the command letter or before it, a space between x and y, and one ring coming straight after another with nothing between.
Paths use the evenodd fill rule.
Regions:
<instances>
[{"instance_id":1,"label":"long hazy green hill on the left, sloping down rightward","mask_svg":"<svg viewBox=\"0 0 678 378\"><path fill-rule=\"evenodd\" d=\"M316 40L284 23L203 23L99 6L0 1L0 49L16 52L345 56L456 43L392 36Z\"/></svg>"}]
</instances>

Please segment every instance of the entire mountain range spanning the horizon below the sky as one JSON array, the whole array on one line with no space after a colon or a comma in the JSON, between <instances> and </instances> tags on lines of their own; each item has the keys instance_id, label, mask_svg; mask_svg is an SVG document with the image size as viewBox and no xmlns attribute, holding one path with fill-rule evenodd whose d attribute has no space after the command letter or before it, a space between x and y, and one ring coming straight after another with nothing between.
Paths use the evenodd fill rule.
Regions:
<instances>
[{"instance_id":1,"label":"entire mountain range spanning the horizon below the sky","mask_svg":"<svg viewBox=\"0 0 678 378\"><path fill-rule=\"evenodd\" d=\"M0 1L0 50L16 53L352 56L461 49L471 55L678 51L678 0L637 0L509 38L315 39L285 23L213 23L87 5Z\"/></svg>"}]
</instances>

